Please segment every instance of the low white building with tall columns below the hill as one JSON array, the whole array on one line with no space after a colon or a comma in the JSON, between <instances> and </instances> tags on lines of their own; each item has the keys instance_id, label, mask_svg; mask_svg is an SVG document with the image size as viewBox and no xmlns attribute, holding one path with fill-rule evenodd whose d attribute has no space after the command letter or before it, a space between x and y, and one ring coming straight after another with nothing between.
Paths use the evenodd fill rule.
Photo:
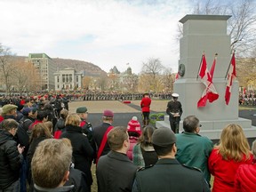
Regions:
<instances>
[{"instance_id":1,"label":"low white building with tall columns below the hill","mask_svg":"<svg viewBox=\"0 0 256 192\"><path fill-rule=\"evenodd\" d=\"M76 90L82 87L82 73L74 68L63 68L54 73L55 91Z\"/></svg>"}]
</instances>

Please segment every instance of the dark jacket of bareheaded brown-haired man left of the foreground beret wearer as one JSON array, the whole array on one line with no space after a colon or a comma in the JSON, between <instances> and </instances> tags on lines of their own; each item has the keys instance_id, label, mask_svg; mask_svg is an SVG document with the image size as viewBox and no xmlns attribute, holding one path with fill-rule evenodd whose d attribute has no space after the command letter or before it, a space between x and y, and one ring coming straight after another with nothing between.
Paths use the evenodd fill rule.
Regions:
<instances>
[{"instance_id":1,"label":"dark jacket of bareheaded brown-haired man left of the foreground beret wearer","mask_svg":"<svg viewBox=\"0 0 256 192\"><path fill-rule=\"evenodd\" d=\"M136 170L137 166L123 153L111 150L100 156L96 170L98 192L132 191Z\"/></svg>"}]
</instances>

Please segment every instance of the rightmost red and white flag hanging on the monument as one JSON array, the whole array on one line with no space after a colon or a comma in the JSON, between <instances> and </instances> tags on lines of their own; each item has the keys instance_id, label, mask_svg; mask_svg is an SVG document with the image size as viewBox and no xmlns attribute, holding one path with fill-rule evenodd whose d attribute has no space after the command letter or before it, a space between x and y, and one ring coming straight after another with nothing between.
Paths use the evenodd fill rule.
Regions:
<instances>
[{"instance_id":1,"label":"rightmost red and white flag hanging on the monument","mask_svg":"<svg viewBox=\"0 0 256 192\"><path fill-rule=\"evenodd\" d=\"M230 61L230 67L228 69L228 83L226 86L226 93L225 93L226 105L228 105L229 103L230 96L231 96L231 87L235 78L236 78L236 59L235 59L235 52L233 52L233 55Z\"/></svg>"}]
</instances>

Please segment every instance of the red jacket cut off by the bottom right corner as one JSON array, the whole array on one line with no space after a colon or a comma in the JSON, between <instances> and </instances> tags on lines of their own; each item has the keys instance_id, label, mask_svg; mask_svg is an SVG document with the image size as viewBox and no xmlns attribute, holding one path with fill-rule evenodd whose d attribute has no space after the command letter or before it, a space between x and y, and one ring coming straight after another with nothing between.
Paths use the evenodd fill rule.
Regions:
<instances>
[{"instance_id":1,"label":"red jacket cut off by the bottom right corner","mask_svg":"<svg viewBox=\"0 0 256 192\"><path fill-rule=\"evenodd\" d=\"M242 164L235 177L236 192L256 191L256 164Z\"/></svg>"}]
</instances>

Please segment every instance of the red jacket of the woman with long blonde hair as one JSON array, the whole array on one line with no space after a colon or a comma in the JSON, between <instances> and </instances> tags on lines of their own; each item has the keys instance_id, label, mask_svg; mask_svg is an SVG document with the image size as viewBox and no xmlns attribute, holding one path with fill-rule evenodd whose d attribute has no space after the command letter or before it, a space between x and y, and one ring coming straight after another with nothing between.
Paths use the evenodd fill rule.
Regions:
<instances>
[{"instance_id":1,"label":"red jacket of the woman with long blonde hair","mask_svg":"<svg viewBox=\"0 0 256 192\"><path fill-rule=\"evenodd\" d=\"M209 171L214 176L212 192L235 192L234 180L236 170L241 164L252 164L252 155L249 160L244 159L241 162L235 162L233 160L226 161L222 159L219 154L219 150L214 148L208 159Z\"/></svg>"}]
</instances>

